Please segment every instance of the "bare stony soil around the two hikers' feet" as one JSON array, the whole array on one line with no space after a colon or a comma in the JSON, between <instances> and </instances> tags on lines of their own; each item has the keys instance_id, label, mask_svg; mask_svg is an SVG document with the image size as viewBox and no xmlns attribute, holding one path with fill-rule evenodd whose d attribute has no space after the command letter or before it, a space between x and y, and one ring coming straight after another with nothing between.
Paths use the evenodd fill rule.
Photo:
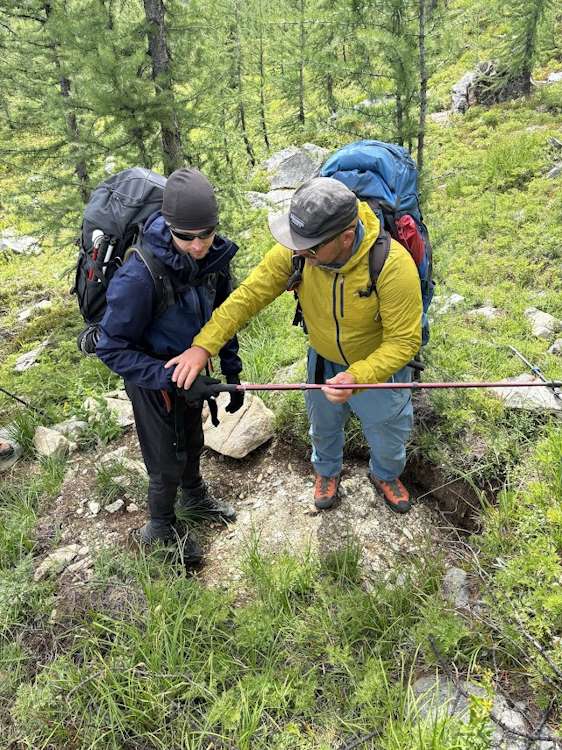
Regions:
<instances>
[{"instance_id":1,"label":"bare stony soil around the two hikers' feet","mask_svg":"<svg viewBox=\"0 0 562 750\"><path fill-rule=\"evenodd\" d=\"M139 459L136 435L129 432L106 449L126 446L127 457ZM61 583L87 580L91 554L103 547L129 543L130 533L146 518L144 490L133 486L117 498L125 503L115 513L103 507L93 515L88 503L100 502L96 488L99 456L75 454L69 462L59 497L45 510L37 529L40 561L54 548L78 544L84 563L70 565ZM213 494L236 508L236 523L200 523L193 533L202 543L205 565L198 576L210 585L228 585L241 578L241 567L252 539L267 553L333 552L351 541L359 544L365 579L387 576L401 556L440 546L449 534L435 499L410 483L414 496L424 495L410 513L390 511L367 477L367 462L346 462L340 502L328 511L312 505L313 480L308 456L284 442L272 442L243 460L207 450L202 470ZM439 484L438 476L432 480ZM460 495L454 488L455 502ZM135 509L135 506L137 509ZM132 510L132 512L131 512ZM461 514L462 515L462 514ZM86 548L88 548L86 550ZM69 580L70 579L70 580Z\"/></svg>"}]
</instances>

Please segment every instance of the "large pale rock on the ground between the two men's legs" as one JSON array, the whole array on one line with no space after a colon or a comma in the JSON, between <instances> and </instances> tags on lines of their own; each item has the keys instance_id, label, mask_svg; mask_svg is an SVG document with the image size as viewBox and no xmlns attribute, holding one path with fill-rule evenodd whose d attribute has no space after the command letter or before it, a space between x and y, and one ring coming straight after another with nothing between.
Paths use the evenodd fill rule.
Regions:
<instances>
[{"instance_id":1,"label":"large pale rock on the ground between the two men's legs","mask_svg":"<svg viewBox=\"0 0 562 750\"><path fill-rule=\"evenodd\" d=\"M246 393L244 406L235 414L224 410L227 393L217 399L220 425L213 427L210 416L203 425L205 445L231 458L244 458L273 437L275 417L259 396Z\"/></svg>"}]
</instances>

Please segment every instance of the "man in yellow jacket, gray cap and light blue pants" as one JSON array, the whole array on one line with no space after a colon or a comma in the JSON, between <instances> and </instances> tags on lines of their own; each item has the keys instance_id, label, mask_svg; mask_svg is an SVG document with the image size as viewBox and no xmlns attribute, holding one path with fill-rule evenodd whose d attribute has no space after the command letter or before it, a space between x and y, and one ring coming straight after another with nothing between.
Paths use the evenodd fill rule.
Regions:
<instances>
[{"instance_id":1,"label":"man in yellow jacket, gray cap and light blue pants","mask_svg":"<svg viewBox=\"0 0 562 750\"><path fill-rule=\"evenodd\" d=\"M292 256L306 259L297 294L309 336L308 379L323 382L306 392L316 473L314 504L337 498L344 427L350 411L360 419L371 451L370 478L388 507L411 507L399 477L406 462L412 420L407 389L357 391L357 383L408 382L406 366L421 345L422 301L418 271L392 241L370 293L369 249L379 220L341 182L316 177L295 191L287 214L270 221L277 244L247 279L215 310L193 345L166 366L178 387L189 388L226 341L282 294L293 272ZM349 383L349 389L330 388Z\"/></svg>"}]
</instances>

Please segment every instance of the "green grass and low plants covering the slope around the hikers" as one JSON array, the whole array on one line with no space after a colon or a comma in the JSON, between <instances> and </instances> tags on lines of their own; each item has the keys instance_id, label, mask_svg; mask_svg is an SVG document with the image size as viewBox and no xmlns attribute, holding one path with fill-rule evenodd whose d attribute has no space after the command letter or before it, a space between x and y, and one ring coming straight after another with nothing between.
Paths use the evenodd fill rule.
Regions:
<instances>
[{"instance_id":1,"label":"green grass and low plants covering the slope around the hikers","mask_svg":"<svg viewBox=\"0 0 562 750\"><path fill-rule=\"evenodd\" d=\"M455 62L432 76L433 110L448 106L451 83L489 56L494 35L505 31L505 25L473 23L466 0L454 5L463 27L457 37L468 42L457 42ZM541 52L541 76L559 68L559 52L556 40L550 57ZM545 86L527 100L473 107L447 126L429 125L424 214L437 293L457 292L464 301L434 316L426 380L517 375L524 368L508 354L508 344L548 376L562 377L562 360L547 353L550 342L532 336L524 314L536 306L562 318L562 195L560 178L546 179L557 158L549 138L562 138L561 102L562 85ZM330 148L348 140L329 129L311 138ZM263 188L263 177L256 173L252 187ZM234 200L223 216L233 236L247 233L236 260L242 279L269 246L266 220ZM19 228L26 229L23 218ZM0 262L0 382L54 423L82 414L86 397L118 381L76 349L82 322L63 273L74 250L48 240L44 247L40 256ZM23 306L43 298L52 300L51 308L18 321ZM468 314L482 304L500 315L483 320ZM306 342L290 325L293 306L292 296L282 295L241 333L246 380L273 380L302 358ZM51 345L39 362L16 374L16 358L48 336ZM3 423L11 423L32 456L37 414L0 398ZM265 400L279 433L304 449L302 394ZM357 424L350 428L348 451L365 450ZM84 440L90 447L106 445L117 434L105 415ZM0 486L5 746L327 750L374 733L362 747L484 750L490 746L488 695L472 700L466 725L420 713L412 684L439 669L430 637L463 675L474 674L485 687L492 677L506 679L516 695L531 688L539 706L554 698L553 715L559 716L560 425L544 415L508 411L483 392L434 392L410 450L477 489L503 488L497 502L484 507L483 533L466 540L464 563L480 586L480 619L461 617L443 601L440 561L404 561L397 580L374 581L367 592L358 575L359 550L350 542L322 559L272 559L250 545L243 603L235 592L186 578L179 566L112 550L96 559L84 606L55 625L51 614L61 593L53 582L33 580L35 529L58 493L64 465L27 464L26 476L16 469ZM124 473L101 470L100 497L118 496L123 488L116 477ZM141 485L135 494L144 491Z\"/></svg>"}]
</instances>

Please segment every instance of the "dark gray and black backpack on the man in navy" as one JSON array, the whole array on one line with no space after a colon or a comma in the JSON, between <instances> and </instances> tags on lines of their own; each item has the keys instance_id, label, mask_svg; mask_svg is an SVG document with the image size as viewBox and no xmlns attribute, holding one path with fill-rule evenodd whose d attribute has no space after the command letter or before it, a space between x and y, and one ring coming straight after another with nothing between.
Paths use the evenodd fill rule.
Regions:
<instances>
[{"instance_id":1,"label":"dark gray and black backpack on the man in navy","mask_svg":"<svg viewBox=\"0 0 562 750\"><path fill-rule=\"evenodd\" d=\"M132 252L141 258L154 280L156 315L173 304L173 287L166 267L142 243L137 243L143 223L162 206L165 185L165 177L133 167L98 185L90 196L77 240L76 277L71 289L87 324L78 336L78 346L84 354L95 352L107 287Z\"/></svg>"}]
</instances>

